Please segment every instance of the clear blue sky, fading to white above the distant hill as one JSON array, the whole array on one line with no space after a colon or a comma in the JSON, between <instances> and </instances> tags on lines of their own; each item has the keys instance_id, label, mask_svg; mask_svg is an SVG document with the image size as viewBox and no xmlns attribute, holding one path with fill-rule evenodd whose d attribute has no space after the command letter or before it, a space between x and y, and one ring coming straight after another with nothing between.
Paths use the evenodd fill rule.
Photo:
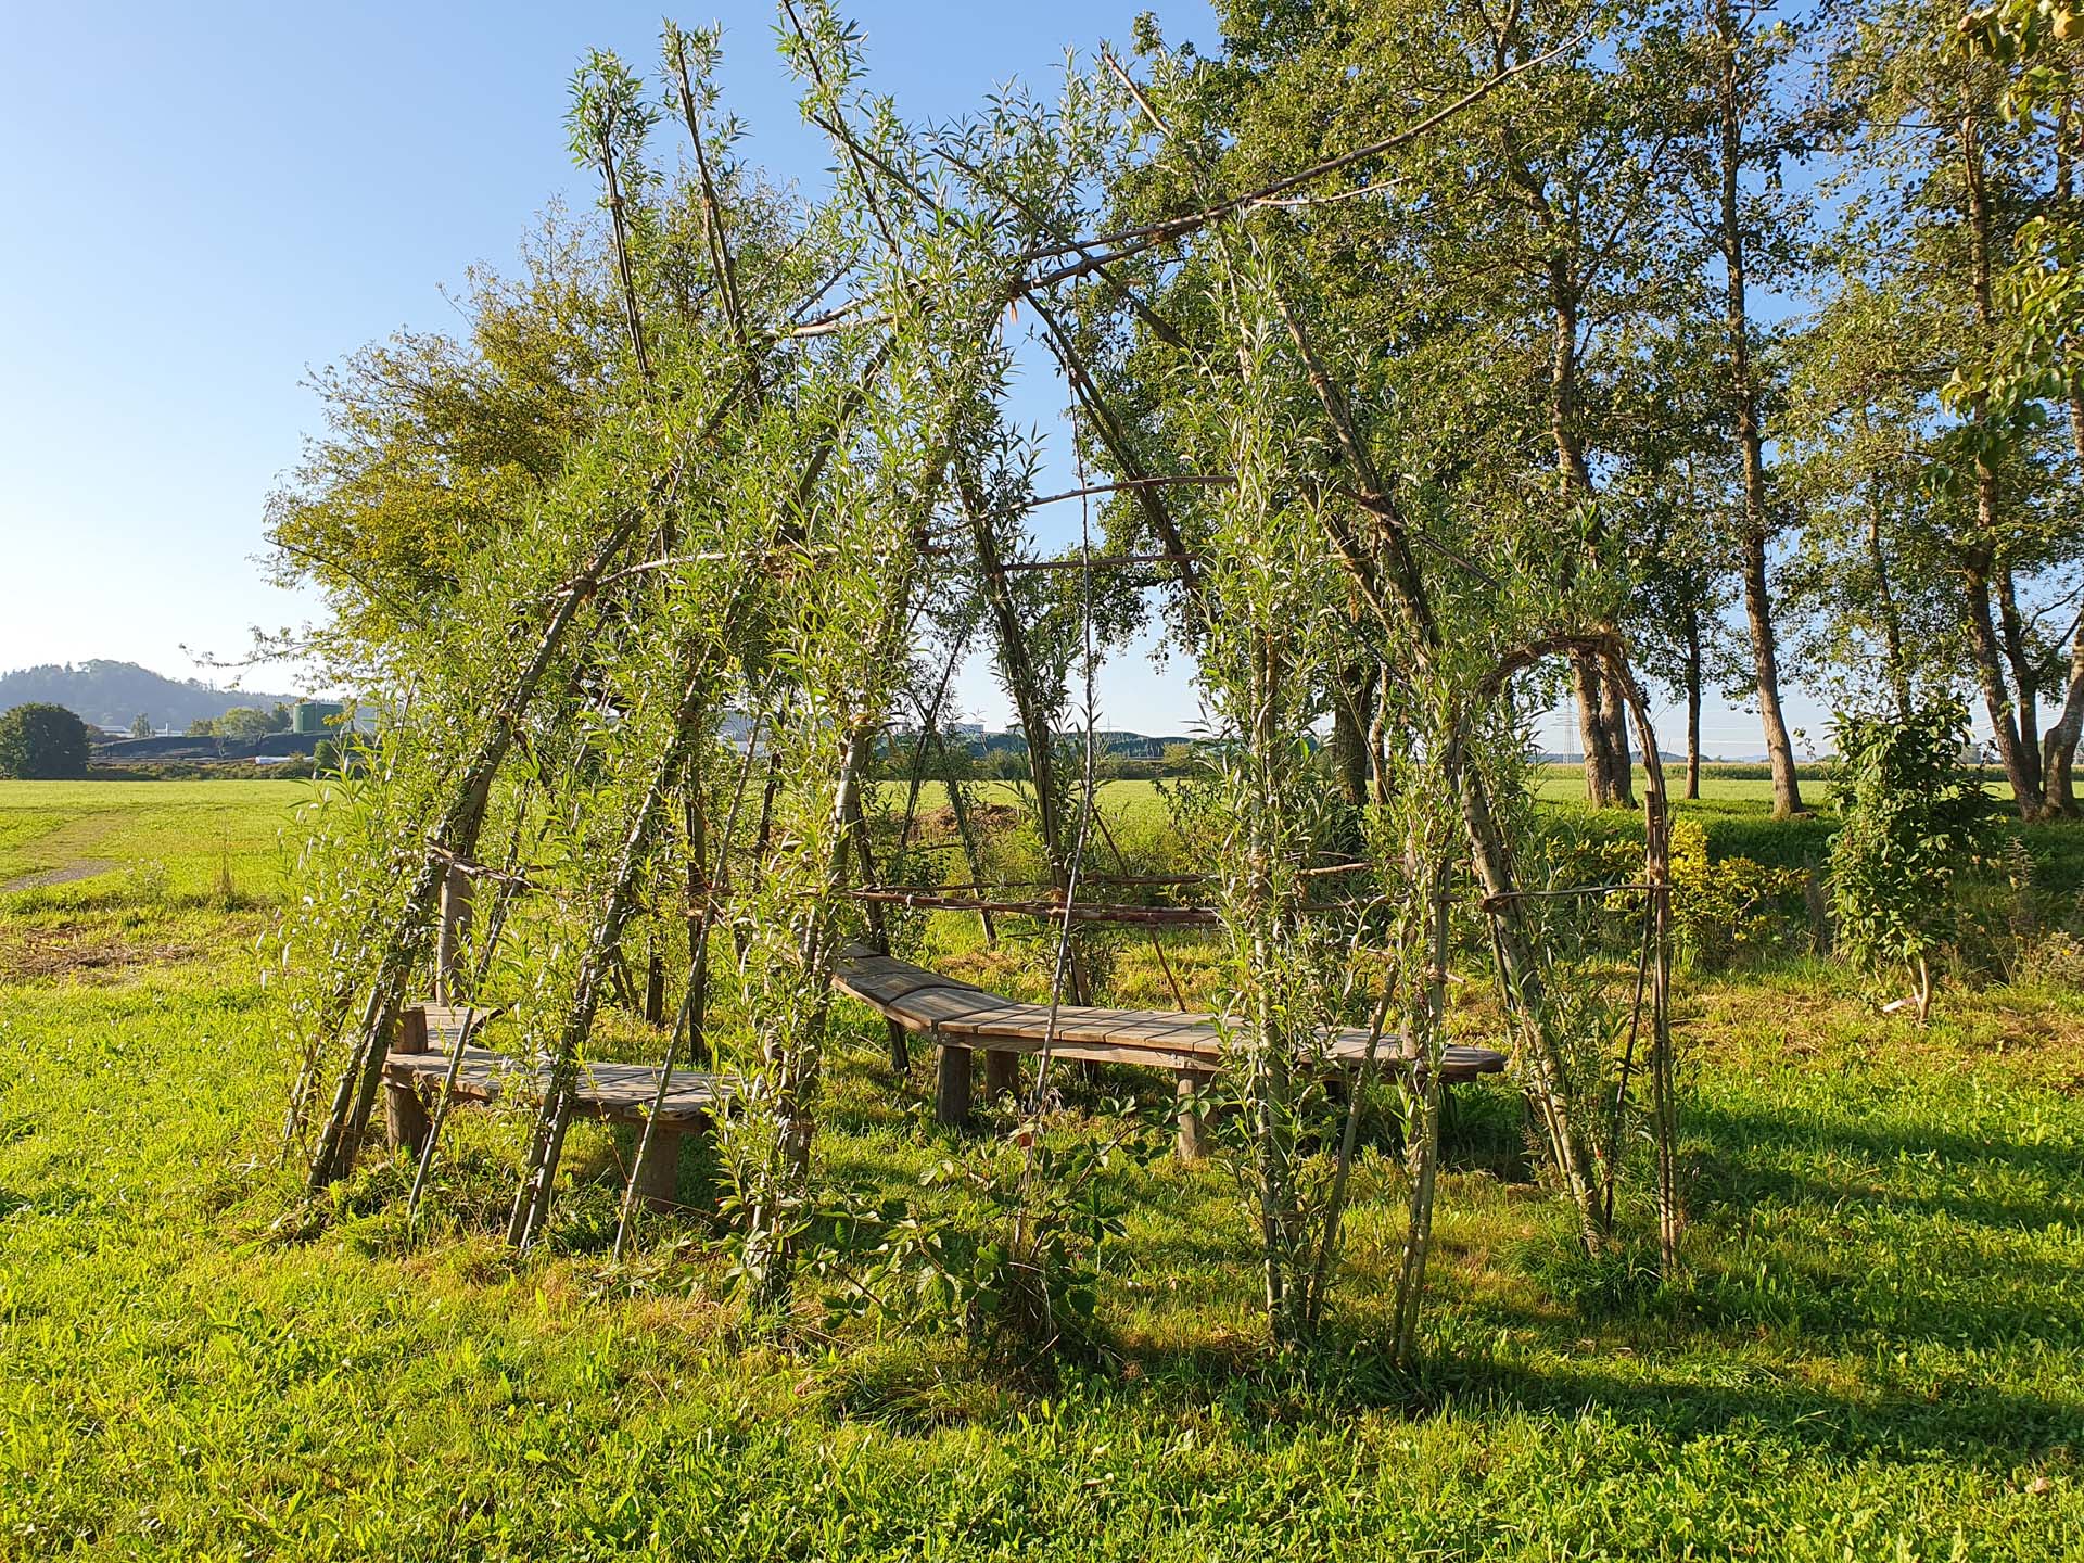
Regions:
<instances>
[{"instance_id":1,"label":"clear blue sky, fading to white above the distant hill","mask_svg":"<svg viewBox=\"0 0 2084 1563\"><path fill-rule=\"evenodd\" d=\"M317 425L306 369L400 325L442 327L442 283L504 265L552 196L592 198L563 144L565 85L592 46L648 67L654 2L10 8L0 567L31 588L8 592L0 669L115 656L208 675L192 654L238 656L250 627L313 613L256 563L263 500ZM859 0L850 15L877 85L946 117L1009 77L1046 88L1067 46L1125 38L1138 8ZM1215 40L1202 0L1159 15L1175 42ZM750 156L815 183L825 148L798 123L771 17L731 0L681 21L723 21ZM1023 398L1029 417L1046 396ZM961 694L1002 723L982 667ZM1100 694L1109 725L1194 721L1184 671L1138 654ZM1678 717L1659 729L1682 744ZM1711 706L1709 752L1757 746L1753 717Z\"/></svg>"}]
</instances>

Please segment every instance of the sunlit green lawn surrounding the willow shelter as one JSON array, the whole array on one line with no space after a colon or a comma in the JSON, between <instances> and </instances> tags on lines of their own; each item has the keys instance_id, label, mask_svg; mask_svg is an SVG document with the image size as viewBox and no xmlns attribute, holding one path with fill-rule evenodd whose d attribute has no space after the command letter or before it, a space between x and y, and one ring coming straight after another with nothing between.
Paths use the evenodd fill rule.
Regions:
<instances>
[{"instance_id":1,"label":"sunlit green lawn surrounding the willow shelter","mask_svg":"<svg viewBox=\"0 0 2084 1563\"><path fill-rule=\"evenodd\" d=\"M0 871L69 850L75 804L94 854L165 865L0 894L0 942L183 946L0 967L0 1555L2084 1555L2076 988L1949 990L1917 1032L1819 965L1690 986L1665 1290L1571 1259L1519 1102L1467 1092L1417 1386L1375 1359L1390 1161L1361 1169L1336 1346L1294 1367L1257 1346L1223 1175L1123 1165L1115 1357L1042 1386L954 1344L746 1346L700 1221L611 1271L604 1134L523 1265L467 1219L506 1190L486 1115L431 1240L400 1242L381 1157L323 1230L275 1232L288 1061L248 946L298 790L235 786L0 784ZM925 1061L892 1088L844 1021L832 1175L917 1196L982 1155L921 1119Z\"/></svg>"}]
</instances>

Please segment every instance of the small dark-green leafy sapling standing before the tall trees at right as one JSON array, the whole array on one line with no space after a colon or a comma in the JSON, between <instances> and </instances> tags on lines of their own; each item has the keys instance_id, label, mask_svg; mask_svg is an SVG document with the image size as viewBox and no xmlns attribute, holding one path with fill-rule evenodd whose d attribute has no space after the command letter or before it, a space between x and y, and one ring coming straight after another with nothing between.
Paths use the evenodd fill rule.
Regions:
<instances>
[{"instance_id":1,"label":"small dark-green leafy sapling standing before the tall trees at right","mask_svg":"<svg viewBox=\"0 0 2084 1563\"><path fill-rule=\"evenodd\" d=\"M1967 711L1936 704L1901 721L1840 715L1832 800L1830 898L1838 948L1876 977L1913 982L1932 1011L1932 952L1955 932L1955 877L1986 848L1994 819L1982 779L1961 765Z\"/></svg>"}]
</instances>

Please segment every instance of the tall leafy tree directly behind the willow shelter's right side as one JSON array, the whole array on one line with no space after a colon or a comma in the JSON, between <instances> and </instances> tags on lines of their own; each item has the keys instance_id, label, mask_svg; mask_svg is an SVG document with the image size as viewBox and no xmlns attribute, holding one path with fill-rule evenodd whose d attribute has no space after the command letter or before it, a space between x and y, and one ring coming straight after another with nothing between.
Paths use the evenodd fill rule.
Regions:
<instances>
[{"instance_id":1,"label":"tall leafy tree directly behind the willow shelter's right side","mask_svg":"<svg viewBox=\"0 0 2084 1563\"><path fill-rule=\"evenodd\" d=\"M1596 592L1630 546L1615 488L1638 429L1619 386L1636 373L1634 329L1684 283L1667 194L1682 73L1653 6L1290 0L1221 19L1196 127L1219 138L1227 188L1521 71L1423 146L1355 171L1353 190L1288 198L1284 213L1315 283L1384 348L1355 390L1394 427L1405 471L1544 550L1588 627L1617 623L1621 602ZM1130 188L1144 210L1177 196L1169 173L1159 160ZM1594 661L1569 665L1588 798L1632 802L1619 692ZM1361 702L1348 694L1334 719L1340 704Z\"/></svg>"}]
</instances>

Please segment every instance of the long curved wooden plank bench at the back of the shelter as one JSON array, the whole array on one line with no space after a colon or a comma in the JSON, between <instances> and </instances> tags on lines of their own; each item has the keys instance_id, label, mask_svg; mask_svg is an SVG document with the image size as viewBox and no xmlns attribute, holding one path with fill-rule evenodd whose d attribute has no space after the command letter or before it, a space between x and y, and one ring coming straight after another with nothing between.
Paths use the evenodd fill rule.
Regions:
<instances>
[{"instance_id":1,"label":"long curved wooden plank bench at the back of the shelter","mask_svg":"<svg viewBox=\"0 0 2084 1563\"><path fill-rule=\"evenodd\" d=\"M1055 1059L1086 1063L1132 1063L1167 1069L1182 1098L1180 1155L1192 1159L1202 1148L1202 1121L1192 1098L1215 1075L1223 1059L1223 1032L1213 1015L1165 1009L1092 1009L1023 1004L938 971L915 967L865 944L840 952L838 986L886 1019L940 1048L936 1115L942 1123L963 1123L971 1109L973 1055L984 1052L986 1090L1017 1092L1021 1055L1044 1046ZM1367 1032L1348 1027L1330 1038L1325 1059L1334 1067L1357 1069L1367 1059ZM1396 1036L1375 1044L1375 1061L1386 1069L1415 1071L1419 1059ZM1475 1080L1505 1069L1494 1048L1450 1046L1440 1059L1444 1084Z\"/></svg>"}]
</instances>

